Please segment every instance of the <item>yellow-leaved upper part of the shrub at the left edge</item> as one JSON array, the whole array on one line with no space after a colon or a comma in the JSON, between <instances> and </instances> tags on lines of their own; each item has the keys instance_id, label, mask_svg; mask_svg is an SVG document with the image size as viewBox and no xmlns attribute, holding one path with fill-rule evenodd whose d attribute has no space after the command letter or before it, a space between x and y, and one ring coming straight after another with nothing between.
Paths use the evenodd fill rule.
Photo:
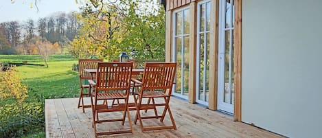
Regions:
<instances>
[{"instance_id":1,"label":"yellow-leaved upper part of the shrub at the left edge","mask_svg":"<svg viewBox=\"0 0 322 138\"><path fill-rule=\"evenodd\" d=\"M12 97L19 104L23 103L27 95L27 86L21 84L21 80L16 73L16 69L11 67L8 71L0 72L0 99Z\"/></svg>"}]
</instances>

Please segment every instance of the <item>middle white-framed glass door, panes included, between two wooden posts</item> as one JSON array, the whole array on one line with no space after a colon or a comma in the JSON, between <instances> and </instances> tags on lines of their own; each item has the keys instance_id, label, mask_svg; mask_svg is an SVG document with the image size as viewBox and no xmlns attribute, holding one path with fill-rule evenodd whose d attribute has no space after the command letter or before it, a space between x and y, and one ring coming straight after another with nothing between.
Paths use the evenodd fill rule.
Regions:
<instances>
[{"instance_id":1,"label":"middle white-framed glass door, panes included, between two wooden posts","mask_svg":"<svg viewBox=\"0 0 322 138\"><path fill-rule=\"evenodd\" d=\"M196 101L208 105L210 1L200 1L197 13Z\"/></svg>"}]
</instances>

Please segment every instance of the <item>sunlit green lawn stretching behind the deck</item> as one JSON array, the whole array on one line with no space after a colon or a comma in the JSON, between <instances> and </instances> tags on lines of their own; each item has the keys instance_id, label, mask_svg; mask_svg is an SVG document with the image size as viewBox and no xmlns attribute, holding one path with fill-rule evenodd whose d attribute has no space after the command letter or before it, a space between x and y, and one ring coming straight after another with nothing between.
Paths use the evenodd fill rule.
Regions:
<instances>
[{"instance_id":1,"label":"sunlit green lawn stretching behind the deck","mask_svg":"<svg viewBox=\"0 0 322 138\"><path fill-rule=\"evenodd\" d=\"M73 63L77 59L71 56L55 55L49 57L49 67L44 65L41 56L0 55L0 62L28 64L16 67L23 84L30 93L43 94L45 98L77 97L79 91L78 72L72 71Z\"/></svg>"}]
</instances>

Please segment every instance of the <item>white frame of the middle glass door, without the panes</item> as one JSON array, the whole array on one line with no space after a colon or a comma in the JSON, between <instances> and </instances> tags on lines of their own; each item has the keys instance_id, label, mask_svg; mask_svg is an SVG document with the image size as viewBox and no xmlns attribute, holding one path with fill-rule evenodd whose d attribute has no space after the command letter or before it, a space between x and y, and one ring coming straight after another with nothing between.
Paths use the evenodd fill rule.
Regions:
<instances>
[{"instance_id":1,"label":"white frame of the middle glass door, without the panes","mask_svg":"<svg viewBox=\"0 0 322 138\"><path fill-rule=\"evenodd\" d=\"M197 67L196 67L196 102L198 102L199 104L203 104L203 105L205 105L205 106L209 106L209 102L205 102L205 101L203 101L203 100L199 100L199 92L200 92L200 90L199 90L199 80L200 80L200 76L199 76L199 74L200 74L200 55L199 55L199 53L200 53L200 34L207 34L208 33L208 37L210 36L210 30L209 31L206 31L206 29L207 29L207 27L206 27L206 24L207 24L207 16L206 16L206 19L205 19L205 21L204 21L204 23L205 23L205 30L203 31L203 32L200 32L200 5L202 5L202 4L204 4L204 3L207 3L207 2L211 2L210 0L204 0L204 1L200 1L200 2L198 2L198 4L197 4L197 36L196 36L196 39L197 39L197 42L196 42L196 65L197 65ZM211 8L211 7L210 7ZM205 14L207 13L207 11L205 11ZM211 24L209 24L209 25L211 25ZM209 40L210 40L210 38L209 38ZM205 43L207 43L207 41L205 41L204 40L204 44ZM207 48L209 48L209 47L205 47L204 48L204 55L205 55L205 59L207 59L208 57L207 57ZM205 66L207 66L207 62L206 62L206 60L204 61L204 65ZM204 67L204 74L203 74L203 89L205 90L205 87L206 87L206 84L205 84L205 82L206 82L206 67ZM209 95L208 95L209 96ZM205 95L205 98L206 98L206 95Z\"/></svg>"}]
</instances>

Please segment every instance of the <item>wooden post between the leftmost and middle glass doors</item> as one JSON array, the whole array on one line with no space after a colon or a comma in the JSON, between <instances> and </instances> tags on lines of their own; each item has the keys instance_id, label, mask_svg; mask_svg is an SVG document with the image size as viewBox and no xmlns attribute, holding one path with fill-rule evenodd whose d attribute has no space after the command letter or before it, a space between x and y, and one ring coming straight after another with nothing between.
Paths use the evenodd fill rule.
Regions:
<instances>
[{"instance_id":1,"label":"wooden post between the leftmost and middle glass doors","mask_svg":"<svg viewBox=\"0 0 322 138\"><path fill-rule=\"evenodd\" d=\"M197 6L196 2L189 5L189 103L196 102L196 23Z\"/></svg>"}]
</instances>

